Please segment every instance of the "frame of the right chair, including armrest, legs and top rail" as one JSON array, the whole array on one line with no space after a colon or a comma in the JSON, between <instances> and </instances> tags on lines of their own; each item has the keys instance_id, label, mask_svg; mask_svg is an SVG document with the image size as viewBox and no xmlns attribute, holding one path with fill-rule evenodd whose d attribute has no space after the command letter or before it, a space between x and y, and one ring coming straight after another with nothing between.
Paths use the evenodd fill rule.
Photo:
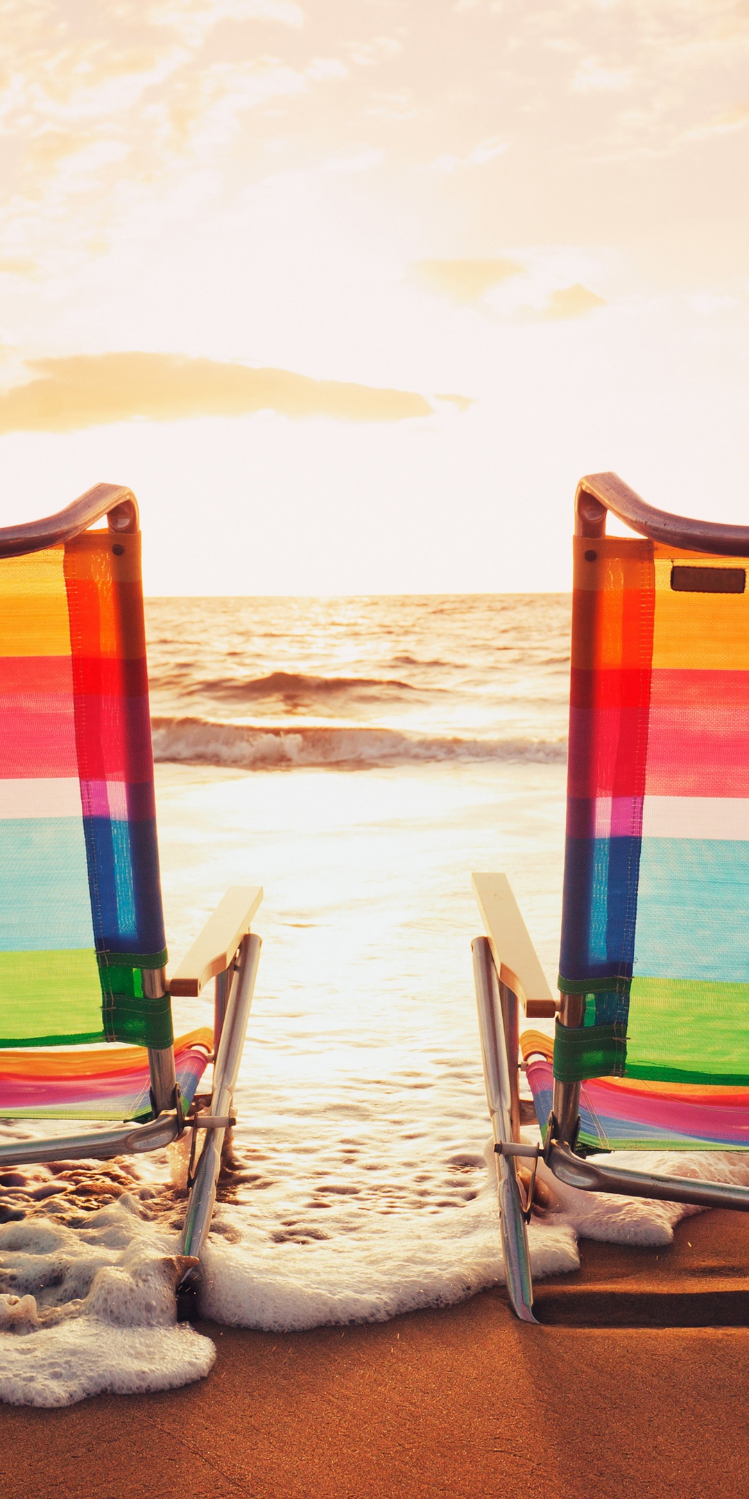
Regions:
<instances>
[{"instance_id":1,"label":"frame of the right chair, including armrest, legs and top rail","mask_svg":"<svg viewBox=\"0 0 749 1499\"><path fill-rule=\"evenodd\" d=\"M671 516L647 505L617 474L586 475L575 495L575 535L592 540L604 537L607 511L640 535L667 546L718 556L749 556L749 526ZM473 887L487 931L485 937L475 938L472 952L484 1081L497 1156L505 1277L512 1310L523 1322L535 1322L526 1229L532 1189L530 1193L521 1193L517 1177L520 1160L527 1160L535 1168L542 1157L560 1181L583 1192L736 1208L743 1213L749 1211L749 1187L623 1171L575 1154L578 1082L560 1082L554 1078L545 1147L520 1141L523 1100L518 1079L518 1006L524 1007L529 1018L556 1015L560 1025L577 1027L581 1022L581 997L551 997L506 877L473 875Z\"/></svg>"}]
</instances>

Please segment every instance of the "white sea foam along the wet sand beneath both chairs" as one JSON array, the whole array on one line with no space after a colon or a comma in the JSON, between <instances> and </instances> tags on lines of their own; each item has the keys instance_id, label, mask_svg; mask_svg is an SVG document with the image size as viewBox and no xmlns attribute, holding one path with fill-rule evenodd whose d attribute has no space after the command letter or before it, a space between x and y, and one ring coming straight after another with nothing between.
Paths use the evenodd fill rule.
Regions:
<instances>
[{"instance_id":1,"label":"white sea foam along the wet sand beneath both chairs","mask_svg":"<svg viewBox=\"0 0 749 1499\"><path fill-rule=\"evenodd\" d=\"M608 1162L749 1186L749 1156L614 1153ZM199 1310L267 1331L380 1322L445 1307L502 1283L494 1157L476 1196L428 1217L373 1214L357 1234L277 1243L222 1204L202 1262ZM701 1211L592 1195L541 1174L553 1207L529 1228L533 1276L578 1268L578 1237L662 1246ZM141 1216L124 1192L75 1226L30 1216L0 1225L0 1400L64 1406L85 1396L171 1390L204 1378L210 1339L175 1324L174 1286L187 1264L177 1235ZM333 1228L333 1223L330 1225Z\"/></svg>"}]
</instances>

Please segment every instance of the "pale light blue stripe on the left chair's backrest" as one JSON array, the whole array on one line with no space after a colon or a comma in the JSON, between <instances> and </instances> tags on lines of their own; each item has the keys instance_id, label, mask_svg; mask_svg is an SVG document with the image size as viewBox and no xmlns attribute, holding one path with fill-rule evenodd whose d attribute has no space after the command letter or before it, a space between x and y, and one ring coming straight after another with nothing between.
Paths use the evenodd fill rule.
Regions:
<instances>
[{"instance_id":1,"label":"pale light blue stripe on the left chair's backrest","mask_svg":"<svg viewBox=\"0 0 749 1499\"><path fill-rule=\"evenodd\" d=\"M0 950L93 944L82 820L0 818Z\"/></svg>"}]
</instances>

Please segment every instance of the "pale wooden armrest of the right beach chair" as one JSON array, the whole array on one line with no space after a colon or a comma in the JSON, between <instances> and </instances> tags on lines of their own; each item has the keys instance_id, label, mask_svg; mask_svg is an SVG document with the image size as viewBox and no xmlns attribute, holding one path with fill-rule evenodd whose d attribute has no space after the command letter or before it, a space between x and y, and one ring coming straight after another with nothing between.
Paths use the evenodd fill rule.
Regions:
<instances>
[{"instance_id":1,"label":"pale wooden armrest of the right beach chair","mask_svg":"<svg viewBox=\"0 0 749 1499\"><path fill-rule=\"evenodd\" d=\"M506 874L473 874L470 881L502 983L517 994L526 1015L556 1015L559 1004L551 995Z\"/></svg>"}]
</instances>

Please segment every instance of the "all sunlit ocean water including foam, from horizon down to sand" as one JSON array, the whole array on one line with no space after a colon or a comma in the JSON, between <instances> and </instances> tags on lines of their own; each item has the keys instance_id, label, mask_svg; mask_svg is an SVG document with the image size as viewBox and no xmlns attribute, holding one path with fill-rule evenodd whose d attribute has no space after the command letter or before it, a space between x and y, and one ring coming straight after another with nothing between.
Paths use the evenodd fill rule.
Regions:
<instances>
[{"instance_id":1,"label":"all sunlit ocean water including foam, from horizon down to sand","mask_svg":"<svg viewBox=\"0 0 749 1499\"><path fill-rule=\"evenodd\" d=\"M493 1285L470 872L511 877L554 983L569 598L171 598L147 628L172 959L228 884L265 887L201 1310L303 1328ZM177 1030L211 1010L175 1001ZM177 1145L0 1177L0 1399L208 1372L211 1342L174 1325L184 1172ZM683 1213L556 1184L533 1271L574 1270L580 1232L667 1243Z\"/></svg>"}]
</instances>

